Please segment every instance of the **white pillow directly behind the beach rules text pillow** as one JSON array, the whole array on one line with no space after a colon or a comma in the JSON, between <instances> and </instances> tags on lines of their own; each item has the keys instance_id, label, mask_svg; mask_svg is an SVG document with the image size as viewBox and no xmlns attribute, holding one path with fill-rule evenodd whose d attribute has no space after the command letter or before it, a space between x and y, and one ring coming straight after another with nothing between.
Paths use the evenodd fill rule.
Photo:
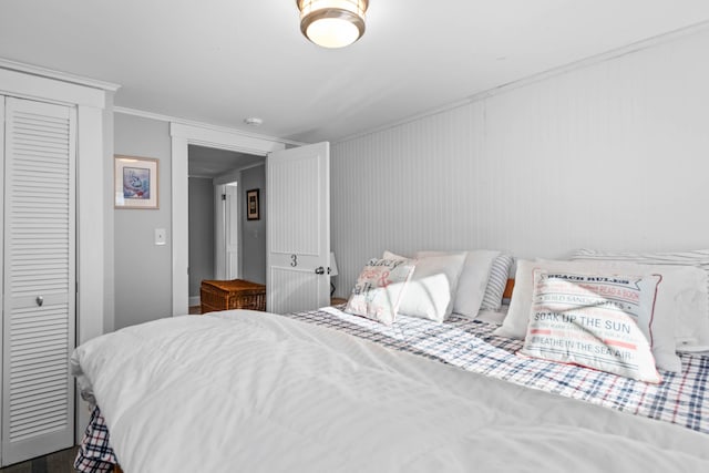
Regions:
<instances>
[{"instance_id":1,"label":"white pillow directly behind the beach rules text pillow","mask_svg":"<svg viewBox=\"0 0 709 473\"><path fill-rule=\"evenodd\" d=\"M534 269L551 271L578 271L585 274L636 274L639 276L659 274L662 281L658 286L655 306L653 354L657 367L672 372L681 371L681 362L676 354L675 320L678 308L684 306L682 290L696 275L692 268L656 267L617 261L556 261L537 259L536 261L517 260L514 290L510 302L510 310L502 326L494 335L523 339L527 331L530 312L532 310L532 295L534 291Z\"/></svg>"}]
</instances>

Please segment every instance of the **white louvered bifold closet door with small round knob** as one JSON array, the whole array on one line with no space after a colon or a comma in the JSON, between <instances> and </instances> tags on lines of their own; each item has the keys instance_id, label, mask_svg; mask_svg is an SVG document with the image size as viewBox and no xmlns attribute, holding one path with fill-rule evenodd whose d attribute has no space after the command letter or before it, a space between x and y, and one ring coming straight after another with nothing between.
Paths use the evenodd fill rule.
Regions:
<instances>
[{"instance_id":1,"label":"white louvered bifold closet door with small round knob","mask_svg":"<svg viewBox=\"0 0 709 473\"><path fill-rule=\"evenodd\" d=\"M73 445L75 110L7 99L2 464Z\"/></svg>"}]
</instances>

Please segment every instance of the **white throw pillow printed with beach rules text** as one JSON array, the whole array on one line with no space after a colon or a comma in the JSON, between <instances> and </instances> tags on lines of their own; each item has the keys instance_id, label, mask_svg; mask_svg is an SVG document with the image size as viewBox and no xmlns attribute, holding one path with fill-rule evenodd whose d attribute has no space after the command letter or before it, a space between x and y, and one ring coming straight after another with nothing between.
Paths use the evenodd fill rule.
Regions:
<instances>
[{"instance_id":1,"label":"white throw pillow printed with beach rules text","mask_svg":"<svg viewBox=\"0 0 709 473\"><path fill-rule=\"evenodd\" d=\"M659 383L650 347L660 279L535 269L521 353Z\"/></svg>"}]
</instances>

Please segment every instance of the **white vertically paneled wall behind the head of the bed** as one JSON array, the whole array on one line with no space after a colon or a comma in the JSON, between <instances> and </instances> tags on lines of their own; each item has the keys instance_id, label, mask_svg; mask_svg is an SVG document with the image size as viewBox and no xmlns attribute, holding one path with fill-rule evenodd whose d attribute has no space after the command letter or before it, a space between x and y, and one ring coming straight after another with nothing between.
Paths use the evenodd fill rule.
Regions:
<instances>
[{"instance_id":1,"label":"white vertically paneled wall behind the head of the bed","mask_svg":"<svg viewBox=\"0 0 709 473\"><path fill-rule=\"evenodd\" d=\"M337 294L384 249L708 247L708 50L705 30L333 144Z\"/></svg>"}]
</instances>

